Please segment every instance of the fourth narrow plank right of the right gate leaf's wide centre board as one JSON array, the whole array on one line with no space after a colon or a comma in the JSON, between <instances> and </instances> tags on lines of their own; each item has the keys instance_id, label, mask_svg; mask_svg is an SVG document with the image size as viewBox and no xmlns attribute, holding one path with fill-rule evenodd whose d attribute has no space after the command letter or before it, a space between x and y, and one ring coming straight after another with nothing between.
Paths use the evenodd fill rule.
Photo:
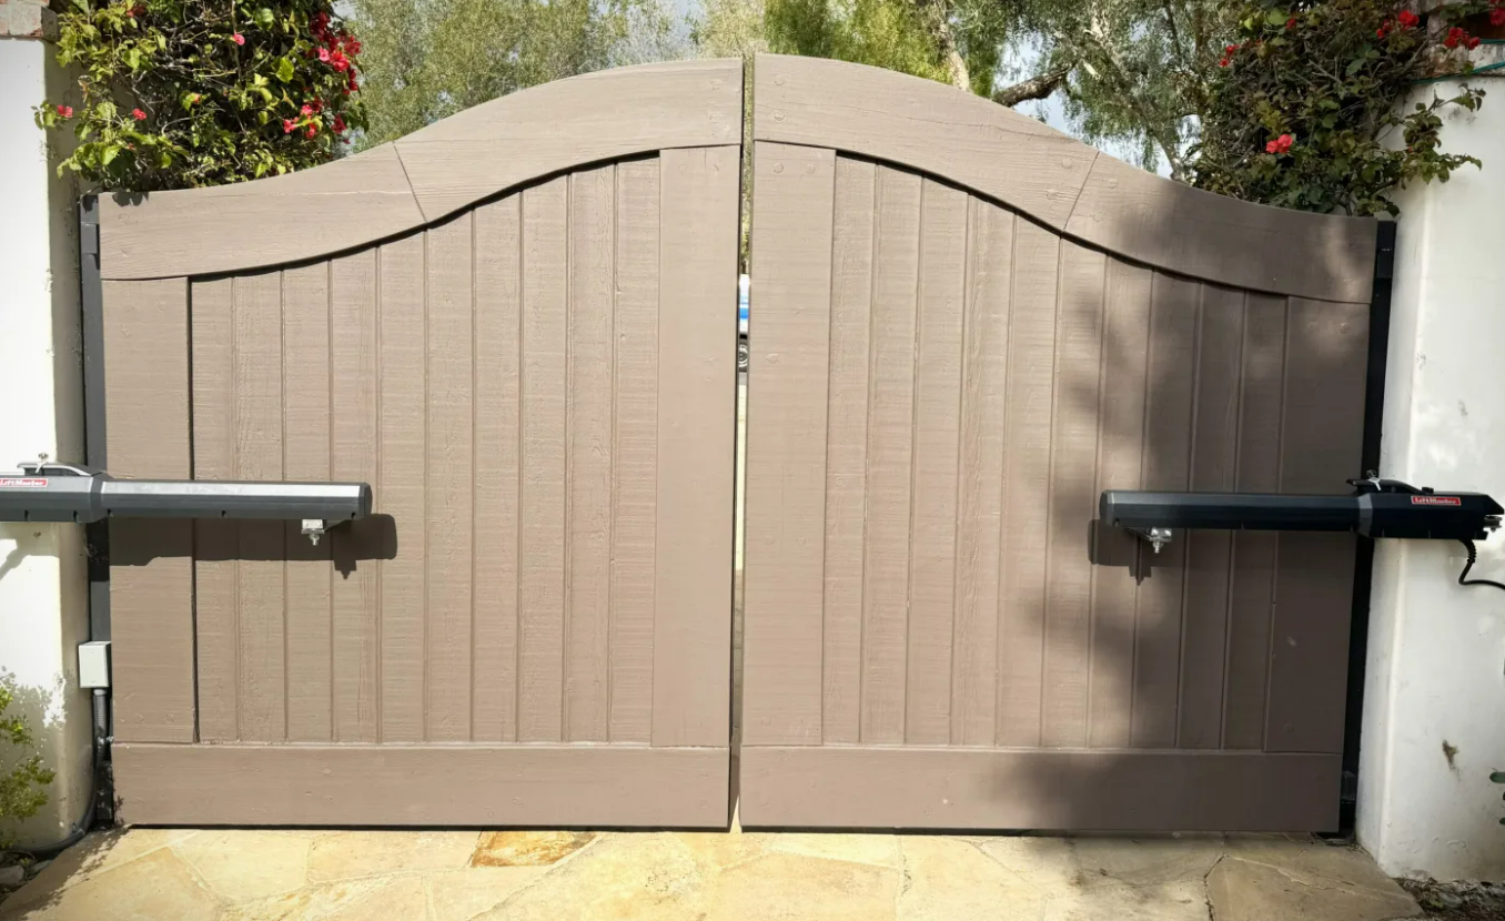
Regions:
<instances>
[{"instance_id":1,"label":"fourth narrow plank right of the right gate leaf's wide centre board","mask_svg":"<svg viewBox=\"0 0 1505 921\"><path fill-rule=\"evenodd\" d=\"M951 743L993 745L998 721L998 530L1014 217L971 199L962 354Z\"/></svg>"}]
</instances>

